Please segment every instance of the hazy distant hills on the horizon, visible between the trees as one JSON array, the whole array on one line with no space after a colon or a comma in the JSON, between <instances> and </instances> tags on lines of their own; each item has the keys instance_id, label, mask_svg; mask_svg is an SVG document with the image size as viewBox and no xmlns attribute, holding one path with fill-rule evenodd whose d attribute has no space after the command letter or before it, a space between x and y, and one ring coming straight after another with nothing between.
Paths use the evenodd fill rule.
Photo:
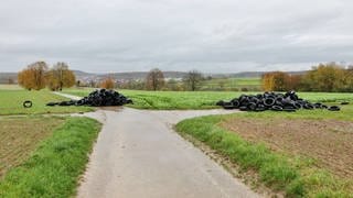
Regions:
<instances>
[{"instance_id":1,"label":"hazy distant hills on the horizon, visible between the trees","mask_svg":"<svg viewBox=\"0 0 353 198\"><path fill-rule=\"evenodd\" d=\"M111 73L111 74L95 74L85 73L82 70L74 70L77 79L83 81L89 80L100 80L108 76L113 76L115 79L119 80L131 80L131 79L145 79L148 72L131 72L131 73ZM235 74L205 74L205 76L212 76L213 78L259 78L263 74L267 72L246 72L246 73L235 73ZM289 72L289 74L301 75L307 73L302 72ZM165 78L182 78L188 73L185 72L163 72ZM0 84L8 84L9 79L17 81L17 73L0 73Z\"/></svg>"}]
</instances>

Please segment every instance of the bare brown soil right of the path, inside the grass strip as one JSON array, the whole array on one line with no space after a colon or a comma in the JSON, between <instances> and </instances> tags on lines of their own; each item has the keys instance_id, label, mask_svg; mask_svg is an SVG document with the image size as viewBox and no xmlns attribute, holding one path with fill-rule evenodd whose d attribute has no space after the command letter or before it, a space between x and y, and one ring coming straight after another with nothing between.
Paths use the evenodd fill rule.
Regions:
<instances>
[{"instance_id":1,"label":"bare brown soil right of the path, inside the grass strip","mask_svg":"<svg viewBox=\"0 0 353 198\"><path fill-rule=\"evenodd\" d=\"M353 177L353 123L338 120L233 118L221 127L270 148L318 160L332 174Z\"/></svg>"}]
</instances>

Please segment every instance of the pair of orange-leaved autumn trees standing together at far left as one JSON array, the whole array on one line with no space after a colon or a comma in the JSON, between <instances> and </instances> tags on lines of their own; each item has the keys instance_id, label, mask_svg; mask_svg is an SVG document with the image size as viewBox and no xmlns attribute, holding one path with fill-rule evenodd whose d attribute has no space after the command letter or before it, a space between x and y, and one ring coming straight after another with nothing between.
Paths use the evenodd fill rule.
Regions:
<instances>
[{"instance_id":1,"label":"pair of orange-leaved autumn trees standing together at far left","mask_svg":"<svg viewBox=\"0 0 353 198\"><path fill-rule=\"evenodd\" d=\"M73 87L76 77L66 63L58 62L50 68L45 62L35 62L18 74L18 81L28 90L41 90L47 87L57 91Z\"/></svg>"}]
</instances>

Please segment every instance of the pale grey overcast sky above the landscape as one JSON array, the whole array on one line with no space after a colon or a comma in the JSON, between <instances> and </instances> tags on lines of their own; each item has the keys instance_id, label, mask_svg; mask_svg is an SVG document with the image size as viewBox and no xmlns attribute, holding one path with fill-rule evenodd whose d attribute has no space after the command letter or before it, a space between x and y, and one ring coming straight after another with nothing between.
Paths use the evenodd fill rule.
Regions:
<instances>
[{"instance_id":1,"label":"pale grey overcast sky above the landscape","mask_svg":"<svg viewBox=\"0 0 353 198\"><path fill-rule=\"evenodd\" d=\"M352 0L1 0L0 72L300 70L353 58Z\"/></svg>"}]
</instances>

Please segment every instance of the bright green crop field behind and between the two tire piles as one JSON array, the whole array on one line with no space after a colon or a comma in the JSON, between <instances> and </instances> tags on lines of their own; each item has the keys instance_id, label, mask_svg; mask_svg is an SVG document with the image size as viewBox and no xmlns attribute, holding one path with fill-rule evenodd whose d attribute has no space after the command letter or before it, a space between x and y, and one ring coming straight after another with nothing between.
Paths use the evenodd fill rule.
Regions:
<instances>
[{"instance_id":1,"label":"bright green crop field behind and between the two tire piles","mask_svg":"<svg viewBox=\"0 0 353 198\"><path fill-rule=\"evenodd\" d=\"M66 89L65 94L85 97L93 89ZM242 94L240 91L143 91L143 90L119 90L133 100L129 107L137 109L214 109L218 108L218 100L231 100ZM299 92L299 96L310 101L335 102L353 100L352 94L327 94L327 92Z\"/></svg>"}]
</instances>

